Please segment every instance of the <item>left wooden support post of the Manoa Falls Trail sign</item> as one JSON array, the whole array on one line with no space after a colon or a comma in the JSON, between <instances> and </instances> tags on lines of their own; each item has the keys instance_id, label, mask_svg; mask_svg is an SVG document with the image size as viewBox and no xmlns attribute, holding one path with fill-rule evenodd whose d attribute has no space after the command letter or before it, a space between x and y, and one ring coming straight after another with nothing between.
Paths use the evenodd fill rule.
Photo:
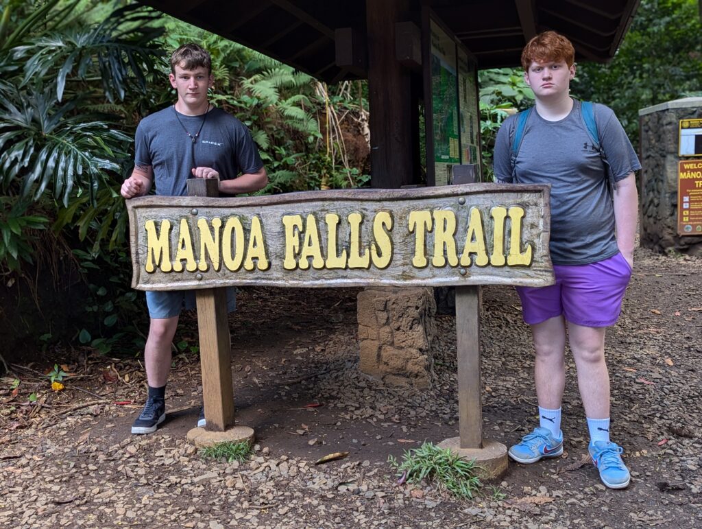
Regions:
<instances>
[{"instance_id":1,"label":"left wooden support post of the Manoa Falls Trail sign","mask_svg":"<svg viewBox=\"0 0 702 529\"><path fill-rule=\"evenodd\" d=\"M191 197L218 197L219 181L216 178L190 178L187 194ZM197 215L195 210L190 213ZM234 426L227 289L199 289L195 299L206 429L226 431Z\"/></svg>"}]
</instances>

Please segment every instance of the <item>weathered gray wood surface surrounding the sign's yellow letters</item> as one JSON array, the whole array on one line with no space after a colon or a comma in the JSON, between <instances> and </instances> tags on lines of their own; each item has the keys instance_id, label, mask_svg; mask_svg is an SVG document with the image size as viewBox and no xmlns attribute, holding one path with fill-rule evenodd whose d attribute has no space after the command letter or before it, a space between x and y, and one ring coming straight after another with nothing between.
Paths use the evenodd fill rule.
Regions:
<instances>
[{"instance_id":1,"label":"weathered gray wood surface surrounding the sign's yellow letters","mask_svg":"<svg viewBox=\"0 0 702 529\"><path fill-rule=\"evenodd\" d=\"M463 202L463 204L461 204ZM465 184L451 185L442 188L423 188L416 190L330 190L288 193L268 197L241 198L208 198L208 197L140 197L128 200L130 219L131 249L133 261L132 286L142 290L173 290L173 289L203 289L222 287L225 285L270 285L279 287L350 287L350 286L441 286L441 285L522 285L545 286L553 282L552 265L548 252L550 230L549 186L547 185L508 185L508 184ZM425 253L428 256L428 266L413 265L416 254L416 230L413 233L409 226L411 214L416 211L435 212L450 211L456 218L456 230L453 239L456 242L459 258L465 243L471 214L475 209L482 218L486 252L493 251L491 242L494 240L494 220L491 218L492 208L522 208L524 217L519 238L522 248L531 246L532 259L528 266L504 266L490 262L485 266L475 263L475 256L468 261L469 266L444 266L432 264L433 238L436 230L426 233ZM283 219L286 216L300 215L304 221L303 230L296 232L298 246L303 247L307 226L314 223L319 235L319 246L322 248L324 259L331 252L329 241L329 224L325 223L327 214L339 216L336 226L337 254L351 251L353 229L350 214L362 216L359 226L360 252L370 252L375 238L373 218L384 212L392 217L392 229L387 230L392 243L392 260L385 268L373 266L368 268L328 268L317 270L312 258L305 259L306 269L284 268L286 242L286 227ZM197 222L204 219L212 223L220 219L222 226L228 219L236 218L241 222L244 232L244 246L249 244L248 237L256 218L260 222L265 254L269 261L266 270L246 270L241 267L231 270L220 264L220 269L213 266L208 269L187 271L164 271L155 268L151 273L146 271L148 243L145 223L152 221L152 237L164 226L161 221L168 220L171 224L171 242L169 243L170 258L176 256L178 234L181 223L187 223L192 236L192 247L196 260L199 260L201 248L200 232ZM311 219L311 221L310 221ZM309 222L308 222L309 221ZM209 226L209 224L208 224ZM503 252L510 249L511 222L505 223ZM211 227L212 233L216 228ZM218 228L223 237L223 228ZM230 233L233 233L230 230ZM231 247L236 247L235 242ZM446 250L446 249L444 249ZM299 252L298 252L299 253ZM152 252L153 254L153 252ZM447 250L443 252L444 256ZM181 261L185 263L185 261ZM307 264L305 263L305 264ZM461 270L465 274L461 273Z\"/></svg>"}]
</instances>

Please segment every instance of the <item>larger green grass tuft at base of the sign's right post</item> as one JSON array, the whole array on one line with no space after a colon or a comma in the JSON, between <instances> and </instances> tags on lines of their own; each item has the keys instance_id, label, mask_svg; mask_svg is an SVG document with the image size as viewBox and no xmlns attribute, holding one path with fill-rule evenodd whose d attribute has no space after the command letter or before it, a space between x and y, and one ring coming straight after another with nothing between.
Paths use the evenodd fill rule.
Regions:
<instances>
[{"instance_id":1,"label":"larger green grass tuft at base of the sign's right post","mask_svg":"<svg viewBox=\"0 0 702 529\"><path fill-rule=\"evenodd\" d=\"M468 461L449 448L442 449L432 443L406 450L402 463L391 455L388 463L400 476L397 483L418 483L426 478L435 481L439 490L448 490L458 497L471 499L482 486L476 476L480 467L475 464L475 459Z\"/></svg>"}]
</instances>

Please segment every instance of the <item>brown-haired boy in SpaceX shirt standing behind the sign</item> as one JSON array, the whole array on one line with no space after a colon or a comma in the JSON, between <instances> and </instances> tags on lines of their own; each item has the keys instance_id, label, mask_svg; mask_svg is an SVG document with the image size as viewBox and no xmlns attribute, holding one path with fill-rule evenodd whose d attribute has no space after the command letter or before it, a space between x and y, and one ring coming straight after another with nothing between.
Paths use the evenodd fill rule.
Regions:
<instances>
[{"instance_id":1,"label":"brown-haired boy in SpaceX shirt standing behind the sign","mask_svg":"<svg viewBox=\"0 0 702 529\"><path fill-rule=\"evenodd\" d=\"M171 55L174 105L145 117L135 138L134 170L121 187L124 198L140 197L156 185L157 195L187 195L188 178L219 178L227 195L253 192L268 178L251 133L239 119L208 100L213 85L211 58L197 44L180 46ZM227 309L236 306L234 289L227 289ZM181 309L195 307L194 291L147 292L151 318L144 348L149 394L132 433L152 433L166 417L164 402L171 343ZM201 410L198 426L205 425Z\"/></svg>"}]
</instances>

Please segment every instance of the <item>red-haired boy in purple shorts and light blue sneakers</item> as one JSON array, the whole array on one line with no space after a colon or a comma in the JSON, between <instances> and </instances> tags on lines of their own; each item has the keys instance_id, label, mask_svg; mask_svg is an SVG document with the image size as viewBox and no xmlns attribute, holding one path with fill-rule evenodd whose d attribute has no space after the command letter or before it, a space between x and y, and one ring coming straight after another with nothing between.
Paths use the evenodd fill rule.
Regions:
<instances>
[{"instance_id":1,"label":"red-haired boy in purple shorts and light blue sneakers","mask_svg":"<svg viewBox=\"0 0 702 529\"><path fill-rule=\"evenodd\" d=\"M495 147L495 176L508 183L550 183L550 254L555 285L519 287L524 322L536 348L534 378L540 425L509 450L517 462L535 463L563 452L560 430L569 341L590 431L588 450L609 488L625 488L630 473L609 440L609 374L604 333L614 325L633 267L638 200L634 171L641 169L630 141L604 105L569 96L575 51L568 39L544 32L522 52L524 81L535 107L505 120ZM594 110L597 134L581 110ZM517 145L519 143L520 145ZM598 147L600 149L598 149Z\"/></svg>"}]
</instances>

